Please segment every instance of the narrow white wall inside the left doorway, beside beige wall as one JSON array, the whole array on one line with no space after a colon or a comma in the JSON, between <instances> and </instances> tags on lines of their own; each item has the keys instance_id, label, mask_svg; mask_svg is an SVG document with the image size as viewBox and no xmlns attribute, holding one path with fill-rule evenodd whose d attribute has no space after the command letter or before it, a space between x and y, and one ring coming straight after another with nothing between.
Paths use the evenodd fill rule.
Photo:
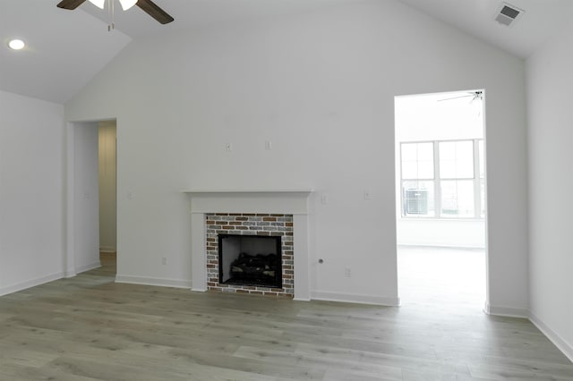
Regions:
<instances>
[{"instance_id":1,"label":"narrow white wall inside the left doorway, beside beige wall","mask_svg":"<svg viewBox=\"0 0 573 381\"><path fill-rule=\"evenodd\" d=\"M100 266L98 123L73 123L73 257L76 273ZM72 255L72 253L71 253Z\"/></svg>"}]
</instances>

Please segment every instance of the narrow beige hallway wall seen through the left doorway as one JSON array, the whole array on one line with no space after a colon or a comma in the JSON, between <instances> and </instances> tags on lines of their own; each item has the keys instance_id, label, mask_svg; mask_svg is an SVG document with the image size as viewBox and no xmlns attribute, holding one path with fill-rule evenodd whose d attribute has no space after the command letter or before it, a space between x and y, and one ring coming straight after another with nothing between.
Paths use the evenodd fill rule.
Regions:
<instances>
[{"instance_id":1,"label":"narrow beige hallway wall seen through the left doorway","mask_svg":"<svg viewBox=\"0 0 573 381\"><path fill-rule=\"evenodd\" d=\"M99 162L99 250L113 252L116 247L115 121L100 122L98 128Z\"/></svg>"}]
</instances>

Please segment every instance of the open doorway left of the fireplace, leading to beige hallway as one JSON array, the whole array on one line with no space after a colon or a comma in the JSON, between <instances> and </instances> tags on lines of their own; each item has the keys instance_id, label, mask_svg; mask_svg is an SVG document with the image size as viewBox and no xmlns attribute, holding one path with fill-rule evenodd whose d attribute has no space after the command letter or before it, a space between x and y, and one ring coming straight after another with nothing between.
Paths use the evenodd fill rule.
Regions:
<instances>
[{"instance_id":1,"label":"open doorway left of the fireplace, leading to beige hallway","mask_svg":"<svg viewBox=\"0 0 573 381\"><path fill-rule=\"evenodd\" d=\"M115 275L115 136L115 120L68 124L67 276L102 266Z\"/></svg>"}]
</instances>

